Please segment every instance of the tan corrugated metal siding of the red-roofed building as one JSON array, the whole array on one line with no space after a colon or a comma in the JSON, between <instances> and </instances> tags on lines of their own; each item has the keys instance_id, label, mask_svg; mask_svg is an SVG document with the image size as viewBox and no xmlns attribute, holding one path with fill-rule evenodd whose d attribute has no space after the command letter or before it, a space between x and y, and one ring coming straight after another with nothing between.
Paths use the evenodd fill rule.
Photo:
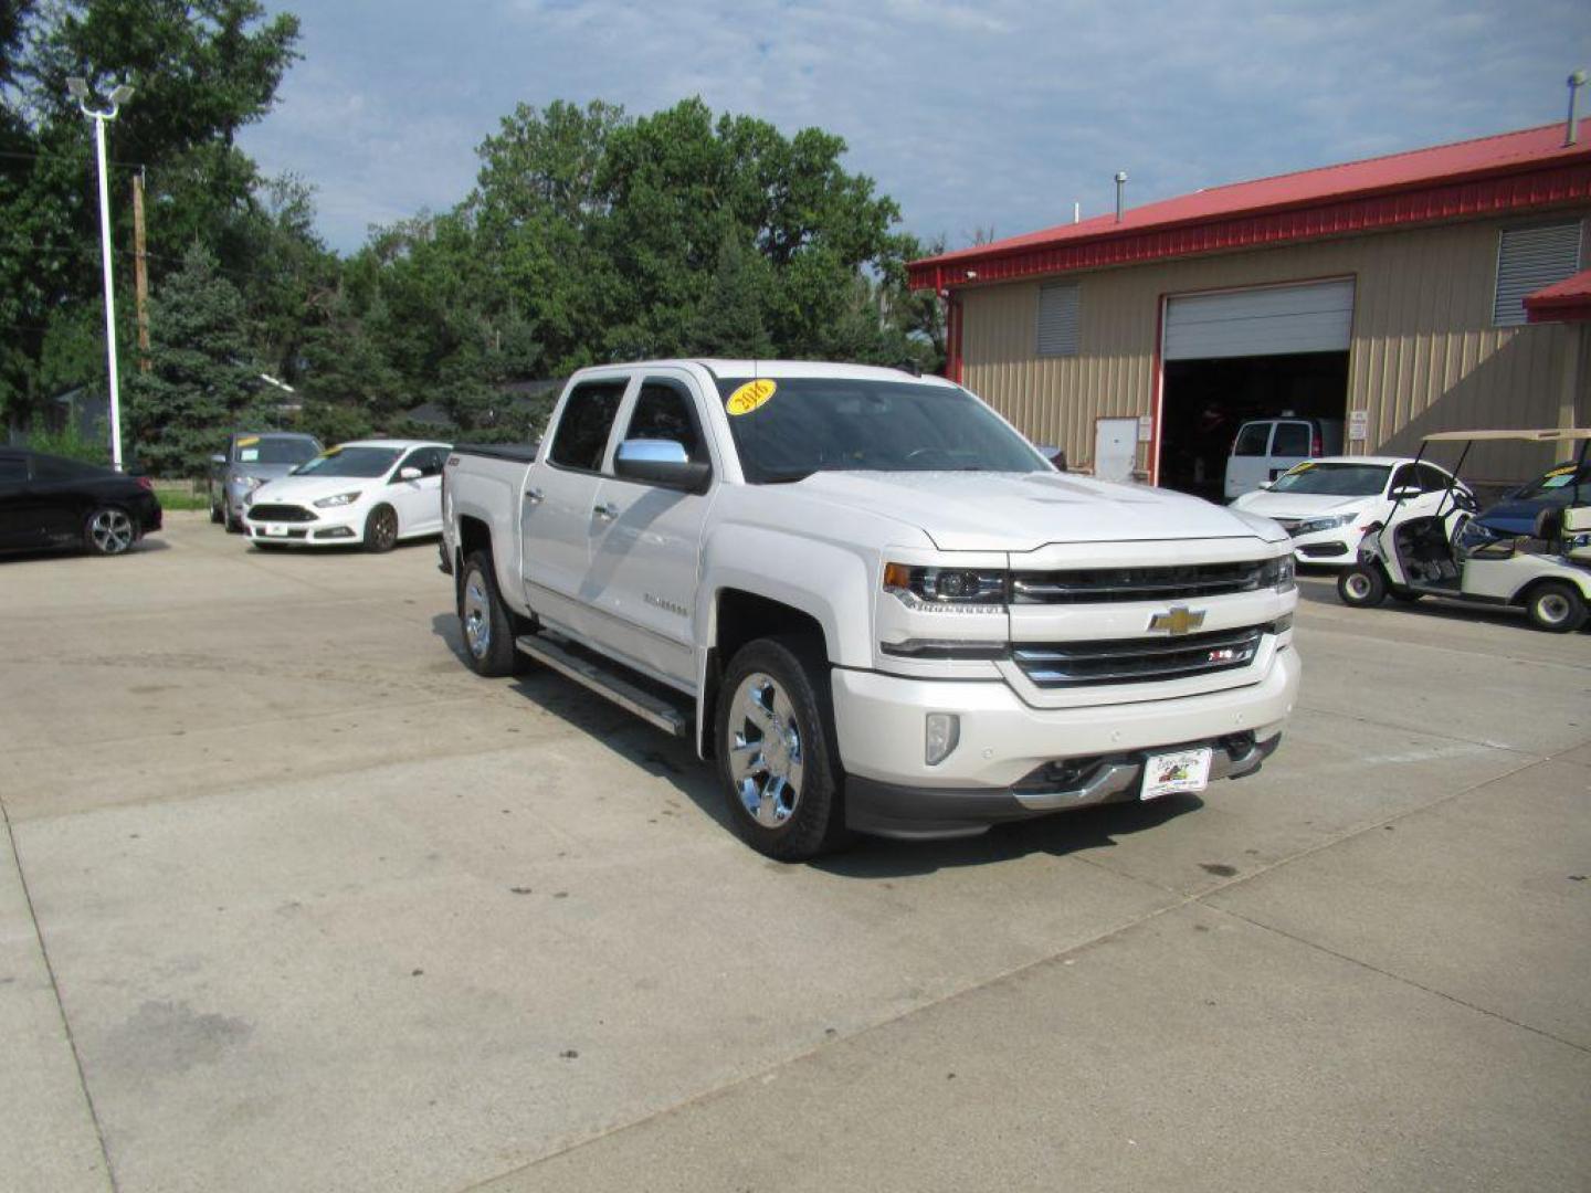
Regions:
<instances>
[{"instance_id":1,"label":"tan corrugated metal siding of the red-roofed building","mask_svg":"<svg viewBox=\"0 0 1591 1193\"><path fill-rule=\"evenodd\" d=\"M964 380L1031 439L1088 463L1096 418L1153 412L1165 296L1352 277L1348 409L1368 410L1367 450L1413 452L1421 434L1438 429L1554 426L1577 329L1491 321L1499 232L1516 224L1448 224L1079 274L1077 356L1037 356L1037 282L964 290ZM1147 468L1146 449L1139 463ZM1473 474L1529 476L1546 455L1499 445L1473 458Z\"/></svg>"}]
</instances>

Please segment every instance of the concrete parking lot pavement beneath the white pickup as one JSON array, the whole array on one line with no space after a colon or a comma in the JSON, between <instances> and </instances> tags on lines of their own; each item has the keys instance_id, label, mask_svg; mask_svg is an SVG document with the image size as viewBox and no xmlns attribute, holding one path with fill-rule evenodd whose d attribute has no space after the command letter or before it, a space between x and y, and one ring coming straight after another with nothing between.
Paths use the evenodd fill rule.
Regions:
<instances>
[{"instance_id":1,"label":"concrete parking lot pavement beneath the white pickup","mask_svg":"<svg viewBox=\"0 0 1591 1193\"><path fill-rule=\"evenodd\" d=\"M1591 635L1306 579L1258 776L786 867L434 565L0 562L0 1188L1588 1187Z\"/></svg>"}]
</instances>

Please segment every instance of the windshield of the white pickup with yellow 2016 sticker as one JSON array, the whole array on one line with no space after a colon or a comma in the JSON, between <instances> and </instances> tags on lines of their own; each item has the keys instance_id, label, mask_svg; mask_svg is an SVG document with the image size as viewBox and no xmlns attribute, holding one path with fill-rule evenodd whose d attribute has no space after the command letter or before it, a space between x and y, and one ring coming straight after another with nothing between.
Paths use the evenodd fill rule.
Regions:
<instances>
[{"instance_id":1,"label":"windshield of the white pickup with yellow 2016 sticker","mask_svg":"<svg viewBox=\"0 0 1591 1193\"><path fill-rule=\"evenodd\" d=\"M718 387L751 484L823 471L1048 471L961 388L856 377L737 377Z\"/></svg>"}]
</instances>

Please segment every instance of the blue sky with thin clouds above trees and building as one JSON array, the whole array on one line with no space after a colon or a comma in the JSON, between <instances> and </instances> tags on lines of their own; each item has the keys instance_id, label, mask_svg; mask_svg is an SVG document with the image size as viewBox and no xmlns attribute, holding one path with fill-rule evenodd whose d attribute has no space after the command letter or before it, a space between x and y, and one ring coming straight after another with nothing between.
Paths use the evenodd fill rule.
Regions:
<instances>
[{"instance_id":1,"label":"blue sky with thin clouds above trees and building","mask_svg":"<svg viewBox=\"0 0 1591 1193\"><path fill-rule=\"evenodd\" d=\"M242 145L317 188L339 251L445 210L515 103L687 95L845 137L924 237L1015 235L1114 204L1564 118L1583 0L266 0L304 60ZM1591 110L1583 94L1581 110ZM1588 132L1591 135L1591 122Z\"/></svg>"}]
</instances>

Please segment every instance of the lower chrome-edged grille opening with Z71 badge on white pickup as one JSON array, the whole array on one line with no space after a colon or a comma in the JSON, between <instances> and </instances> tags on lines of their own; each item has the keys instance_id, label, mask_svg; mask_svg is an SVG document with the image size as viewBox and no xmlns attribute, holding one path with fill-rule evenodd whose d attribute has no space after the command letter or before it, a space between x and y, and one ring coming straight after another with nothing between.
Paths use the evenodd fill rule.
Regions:
<instances>
[{"instance_id":1,"label":"lower chrome-edged grille opening with Z71 badge on white pickup","mask_svg":"<svg viewBox=\"0 0 1591 1193\"><path fill-rule=\"evenodd\" d=\"M1185 679L1247 666L1268 628L1251 625L1182 638L1018 643L1010 657L1036 687L1047 689Z\"/></svg>"}]
</instances>

